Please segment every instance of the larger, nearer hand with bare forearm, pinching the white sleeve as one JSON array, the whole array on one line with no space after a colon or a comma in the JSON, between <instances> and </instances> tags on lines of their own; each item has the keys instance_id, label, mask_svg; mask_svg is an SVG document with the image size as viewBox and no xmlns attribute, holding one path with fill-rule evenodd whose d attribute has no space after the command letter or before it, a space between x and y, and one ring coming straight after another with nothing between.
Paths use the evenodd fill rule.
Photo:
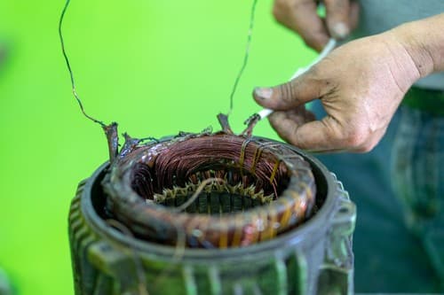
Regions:
<instances>
[{"instance_id":1,"label":"larger, nearer hand with bare forearm, pinching the white sleeve","mask_svg":"<svg viewBox=\"0 0 444 295\"><path fill-rule=\"evenodd\" d=\"M366 152L384 136L393 113L418 79L444 70L444 13L346 43L308 72L258 88L259 105L282 139L309 151ZM305 103L321 99L313 120Z\"/></svg>"}]
</instances>

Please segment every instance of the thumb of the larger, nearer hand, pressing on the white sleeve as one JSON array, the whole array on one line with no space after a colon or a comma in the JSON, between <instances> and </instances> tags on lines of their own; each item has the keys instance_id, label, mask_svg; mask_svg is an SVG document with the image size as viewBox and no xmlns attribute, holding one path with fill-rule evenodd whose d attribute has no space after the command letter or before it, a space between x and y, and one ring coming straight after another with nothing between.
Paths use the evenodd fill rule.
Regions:
<instances>
[{"instance_id":1,"label":"thumb of the larger, nearer hand, pressing on the white sleeve","mask_svg":"<svg viewBox=\"0 0 444 295\"><path fill-rule=\"evenodd\" d=\"M319 80L311 79L310 72L270 88L256 88L253 97L259 105L266 108L285 111L303 105L319 97Z\"/></svg>"}]
</instances>

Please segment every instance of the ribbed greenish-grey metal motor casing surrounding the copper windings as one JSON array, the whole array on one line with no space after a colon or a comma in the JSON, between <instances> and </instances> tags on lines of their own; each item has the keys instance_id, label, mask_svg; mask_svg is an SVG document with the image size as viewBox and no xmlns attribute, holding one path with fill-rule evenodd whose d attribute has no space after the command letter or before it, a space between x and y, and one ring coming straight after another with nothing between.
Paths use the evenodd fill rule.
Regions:
<instances>
[{"instance_id":1,"label":"ribbed greenish-grey metal motor casing surrounding the copper windings","mask_svg":"<svg viewBox=\"0 0 444 295\"><path fill-rule=\"evenodd\" d=\"M295 149L297 151L297 149ZM123 235L101 211L107 164L80 182L69 211L75 294L352 294L356 209L336 176L312 168L320 210L296 229L241 248L183 249Z\"/></svg>"}]
</instances>

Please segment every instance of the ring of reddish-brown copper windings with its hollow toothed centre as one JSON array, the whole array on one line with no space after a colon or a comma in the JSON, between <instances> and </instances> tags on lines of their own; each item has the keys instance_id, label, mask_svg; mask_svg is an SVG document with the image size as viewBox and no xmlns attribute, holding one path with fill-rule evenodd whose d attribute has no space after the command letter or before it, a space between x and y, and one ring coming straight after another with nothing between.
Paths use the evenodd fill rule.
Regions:
<instances>
[{"instance_id":1,"label":"ring of reddish-brown copper windings with its hollow toothed centre","mask_svg":"<svg viewBox=\"0 0 444 295\"><path fill-rule=\"evenodd\" d=\"M202 186L210 178L223 181ZM184 237L204 248L252 245L295 228L312 214L316 191L310 165L286 145L225 132L133 144L104 188L112 218L136 237L167 245Z\"/></svg>"}]
</instances>

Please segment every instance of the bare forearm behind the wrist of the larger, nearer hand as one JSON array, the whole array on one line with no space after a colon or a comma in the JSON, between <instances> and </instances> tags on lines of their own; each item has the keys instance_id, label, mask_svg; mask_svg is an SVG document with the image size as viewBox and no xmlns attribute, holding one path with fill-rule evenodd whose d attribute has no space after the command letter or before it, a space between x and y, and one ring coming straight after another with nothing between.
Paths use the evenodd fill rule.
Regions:
<instances>
[{"instance_id":1,"label":"bare forearm behind the wrist of the larger, nearer hand","mask_svg":"<svg viewBox=\"0 0 444 295\"><path fill-rule=\"evenodd\" d=\"M406 23L386 34L406 50L416 66L417 79L444 71L444 13Z\"/></svg>"}]
</instances>

